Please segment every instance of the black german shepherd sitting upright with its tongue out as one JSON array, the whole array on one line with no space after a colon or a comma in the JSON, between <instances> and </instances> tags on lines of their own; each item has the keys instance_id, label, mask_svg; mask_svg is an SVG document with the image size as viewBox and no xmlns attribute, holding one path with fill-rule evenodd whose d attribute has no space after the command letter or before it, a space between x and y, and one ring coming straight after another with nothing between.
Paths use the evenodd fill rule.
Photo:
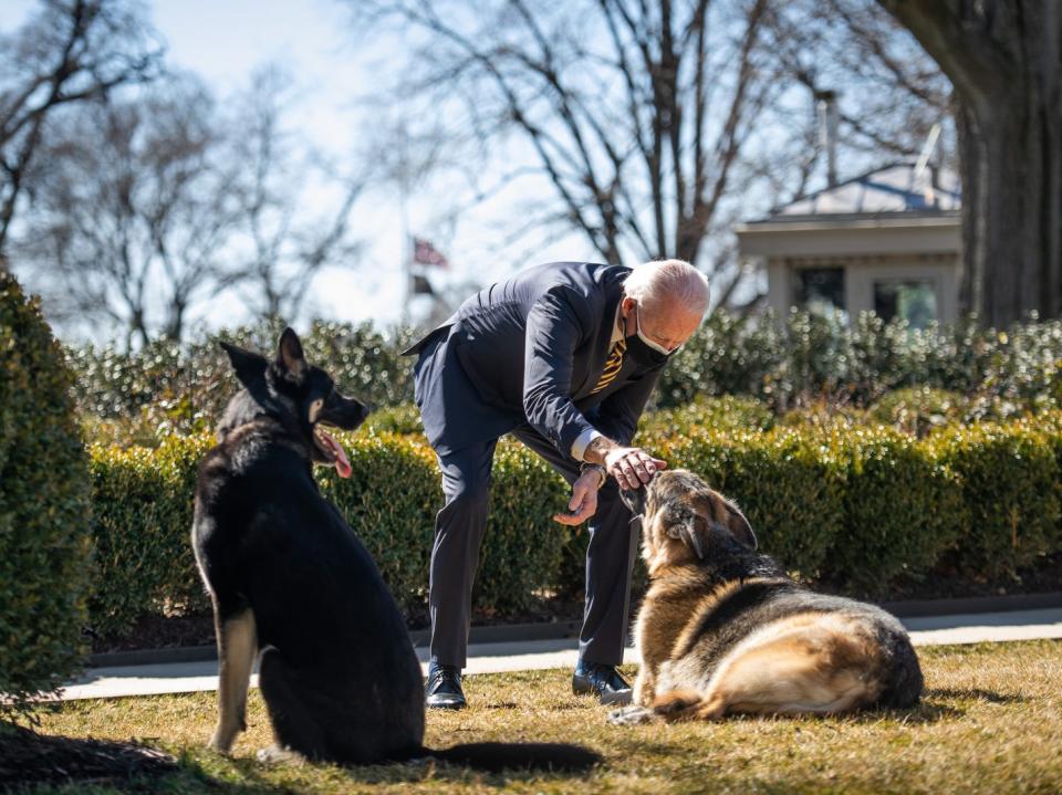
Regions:
<instances>
[{"instance_id":1,"label":"black german shepherd sitting upright with its tongue out","mask_svg":"<svg viewBox=\"0 0 1062 795\"><path fill-rule=\"evenodd\" d=\"M434 756L485 770L584 768L596 754L563 744L479 743L429 751L420 666L373 558L314 482L314 463L350 477L321 426L357 428L368 410L311 366L288 328L278 355L222 343L242 389L199 466L192 546L214 603L220 680L210 746L246 729L259 680L277 741L342 764Z\"/></svg>"}]
</instances>

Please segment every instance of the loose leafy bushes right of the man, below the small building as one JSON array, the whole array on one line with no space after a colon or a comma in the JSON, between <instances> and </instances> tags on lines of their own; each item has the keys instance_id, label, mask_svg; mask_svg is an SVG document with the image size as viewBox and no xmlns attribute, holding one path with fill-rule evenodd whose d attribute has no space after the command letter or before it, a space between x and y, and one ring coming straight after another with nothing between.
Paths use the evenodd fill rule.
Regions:
<instances>
[{"instance_id":1,"label":"loose leafy bushes right of the man, below the small building","mask_svg":"<svg viewBox=\"0 0 1062 795\"><path fill-rule=\"evenodd\" d=\"M738 318L717 311L668 364L657 406L747 395L775 412L819 402L866 407L896 389L959 393L967 419L1006 420L1060 406L1062 322L997 331L975 318L908 328L863 313L851 325L793 310Z\"/></svg>"}]
</instances>

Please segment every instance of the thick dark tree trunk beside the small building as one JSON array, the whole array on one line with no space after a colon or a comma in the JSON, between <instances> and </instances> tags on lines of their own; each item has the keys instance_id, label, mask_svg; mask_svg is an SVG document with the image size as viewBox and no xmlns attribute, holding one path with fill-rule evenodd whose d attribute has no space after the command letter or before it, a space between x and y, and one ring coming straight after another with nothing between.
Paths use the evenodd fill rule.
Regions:
<instances>
[{"instance_id":1,"label":"thick dark tree trunk beside the small building","mask_svg":"<svg viewBox=\"0 0 1062 795\"><path fill-rule=\"evenodd\" d=\"M1062 315L1062 8L1058 0L878 0L958 97L960 302L1004 326Z\"/></svg>"}]
</instances>

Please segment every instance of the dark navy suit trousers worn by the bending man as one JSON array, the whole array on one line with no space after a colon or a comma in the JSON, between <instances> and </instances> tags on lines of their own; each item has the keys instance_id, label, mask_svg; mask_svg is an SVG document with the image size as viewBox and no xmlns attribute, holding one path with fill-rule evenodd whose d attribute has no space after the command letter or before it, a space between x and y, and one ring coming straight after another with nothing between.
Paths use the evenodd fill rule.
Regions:
<instances>
[{"instance_id":1,"label":"dark navy suit trousers worn by the bending man","mask_svg":"<svg viewBox=\"0 0 1062 795\"><path fill-rule=\"evenodd\" d=\"M523 444L544 458L569 482L579 464L562 456L530 426L512 431ZM471 616L472 582L487 526L490 470L497 440L439 454L446 504L436 516L428 606L431 614L431 656L444 665L464 668ZM556 510L564 510L559 505ZM543 505L543 511L551 506ZM571 532L556 525L554 532ZM615 481L597 492L597 512L590 520L586 550L586 602L579 650L590 662L620 665L631 607L631 572L637 552L638 523L620 499Z\"/></svg>"}]
</instances>

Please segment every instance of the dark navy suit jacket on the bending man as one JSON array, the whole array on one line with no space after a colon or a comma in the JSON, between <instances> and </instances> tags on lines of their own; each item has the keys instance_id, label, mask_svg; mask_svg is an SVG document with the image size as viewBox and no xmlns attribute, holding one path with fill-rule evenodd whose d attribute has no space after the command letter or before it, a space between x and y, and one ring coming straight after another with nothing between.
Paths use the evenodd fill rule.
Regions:
<instances>
[{"instance_id":1,"label":"dark navy suit jacket on the bending man","mask_svg":"<svg viewBox=\"0 0 1062 795\"><path fill-rule=\"evenodd\" d=\"M612 348L628 268L551 262L492 284L404 354L419 354L416 400L442 454L529 423L562 453L596 428L627 444L664 365L627 356L591 394Z\"/></svg>"}]
</instances>

